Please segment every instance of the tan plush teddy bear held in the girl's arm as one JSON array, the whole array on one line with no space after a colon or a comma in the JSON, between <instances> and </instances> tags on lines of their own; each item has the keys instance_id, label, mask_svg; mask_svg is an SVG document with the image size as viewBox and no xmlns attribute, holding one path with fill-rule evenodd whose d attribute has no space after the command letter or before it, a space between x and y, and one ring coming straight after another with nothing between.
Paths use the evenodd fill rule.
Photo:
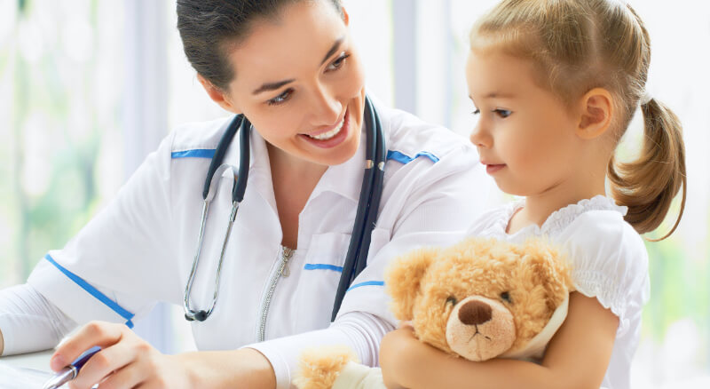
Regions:
<instances>
[{"instance_id":1,"label":"tan plush teddy bear held in the girl's arm","mask_svg":"<svg viewBox=\"0 0 710 389\"><path fill-rule=\"evenodd\" d=\"M564 322L572 281L567 259L541 239L523 244L469 238L422 248L385 272L390 309L422 342L469 361L539 361ZM379 368L347 346L305 351L299 389L384 388Z\"/></svg>"}]
</instances>

